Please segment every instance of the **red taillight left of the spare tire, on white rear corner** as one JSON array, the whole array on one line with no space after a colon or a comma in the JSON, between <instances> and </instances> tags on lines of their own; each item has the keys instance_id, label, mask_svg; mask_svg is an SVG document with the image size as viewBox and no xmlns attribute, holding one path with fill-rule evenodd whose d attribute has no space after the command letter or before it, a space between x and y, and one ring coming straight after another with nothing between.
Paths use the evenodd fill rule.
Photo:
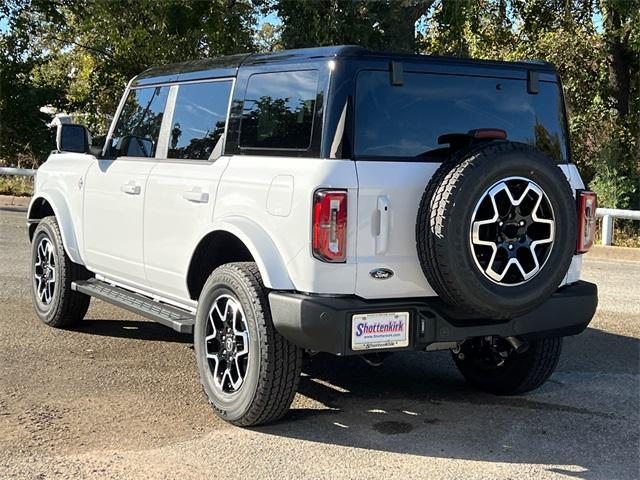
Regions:
<instances>
[{"instance_id":1,"label":"red taillight left of the spare tire, on white rear corner","mask_svg":"<svg viewBox=\"0 0 640 480\"><path fill-rule=\"evenodd\" d=\"M347 258L347 192L317 190L313 195L313 256L324 262Z\"/></svg>"}]
</instances>

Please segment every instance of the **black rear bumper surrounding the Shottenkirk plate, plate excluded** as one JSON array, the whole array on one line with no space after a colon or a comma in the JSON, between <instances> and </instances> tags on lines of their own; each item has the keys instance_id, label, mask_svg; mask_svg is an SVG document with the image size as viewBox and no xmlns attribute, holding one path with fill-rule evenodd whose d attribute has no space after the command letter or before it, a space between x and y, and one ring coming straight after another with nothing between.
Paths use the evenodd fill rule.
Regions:
<instances>
[{"instance_id":1,"label":"black rear bumper surrounding the Shottenkirk plate, plate excluded","mask_svg":"<svg viewBox=\"0 0 640 480\"><path fill-rule=\"evenodd\" d=\"M355 296L271 292L269 303L276 329L296 345L319 352L356 355L366 351L351 349L354 314L409 312L409 346L386 351L424 350L437 342L486 335L534 340L581 333L596 311L598 289L593 283L582 281L562 287L533 312L506 321L461 316L437 297L364 300Z\"/></svg>"}]
</instances>

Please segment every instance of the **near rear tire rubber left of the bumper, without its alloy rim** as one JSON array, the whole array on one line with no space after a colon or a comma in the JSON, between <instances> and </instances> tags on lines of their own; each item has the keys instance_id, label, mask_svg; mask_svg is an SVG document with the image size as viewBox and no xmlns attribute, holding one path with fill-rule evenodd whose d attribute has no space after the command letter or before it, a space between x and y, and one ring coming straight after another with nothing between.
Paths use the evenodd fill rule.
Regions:
<instances>
[{"instance_id":1,"label":"near rear tire rubber left of the bumper, without its alloy rim","mask_svg":"<svg viewBox=\"0 0 640 480\"><path fill-rule=\"evenodd\" d=\"M231 394L216 385L207 358L209 313L221 296L239 301L249 334L246 376ZM194 348L202 387L219 417L246 427L274 422L287 413L298 388L302 349L275 330L267 289L255 263L229 263L211 274L198 302Z\"/></svg>"}]
</instances>

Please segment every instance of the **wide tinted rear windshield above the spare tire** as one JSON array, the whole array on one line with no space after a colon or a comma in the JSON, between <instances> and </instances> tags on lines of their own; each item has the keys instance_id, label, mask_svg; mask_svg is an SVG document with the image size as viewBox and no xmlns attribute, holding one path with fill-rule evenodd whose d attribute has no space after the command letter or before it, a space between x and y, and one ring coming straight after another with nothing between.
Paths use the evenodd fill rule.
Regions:
<instances>
[{"instance_id":1,"label":"wide tinted rear windshield above the spare tire","mask_svg":"<svg viewBox=\"0 0 640 480\"><path fill-rule=\"evenodd\" d=\"M388 71L363 70L356 84L355 155L442 160L438 137L499 128L509 140L535 145L567 161L564 108L556 83L430 73L404 73L391 85ZM445 148L443 148L445 147Z\"/></svg>"}]
</instances>

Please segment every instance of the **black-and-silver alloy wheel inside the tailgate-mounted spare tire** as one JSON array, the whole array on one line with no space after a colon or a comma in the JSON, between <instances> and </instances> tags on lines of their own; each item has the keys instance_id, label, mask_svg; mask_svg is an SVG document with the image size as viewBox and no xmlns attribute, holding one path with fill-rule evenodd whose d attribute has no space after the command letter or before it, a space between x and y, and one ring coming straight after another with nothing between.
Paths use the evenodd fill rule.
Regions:
<instances>
[{"instance_id":1,"label":"black-and-silver alloy wheel inside the tailgate-mounted spare tire","mask_svg":"<svg viewBox=\"0 0 640 480\"><path fill-rule=\"evenodd\" d=\"M549 258L554 238L551 202L527 178L496 182L473 211L473 258L480 271L498 285L521 285L537 275Z\"/></svg>"}]
</instances>

